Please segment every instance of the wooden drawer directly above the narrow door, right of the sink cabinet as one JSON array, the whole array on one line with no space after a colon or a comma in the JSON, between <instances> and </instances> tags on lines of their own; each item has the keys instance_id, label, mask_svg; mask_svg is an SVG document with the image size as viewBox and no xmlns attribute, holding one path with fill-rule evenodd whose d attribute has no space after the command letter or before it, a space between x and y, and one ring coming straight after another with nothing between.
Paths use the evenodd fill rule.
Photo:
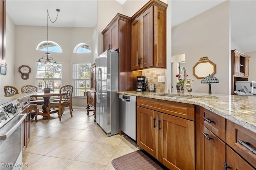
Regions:
<instances>
[{"instance_id":1,"label":"wooden drawer directly above the narrow door, right of the sink cabinet","mask_svg":"<svg viewBox=\"0 0 256 170\"><path fill-rule=\"evenodd\" d=\"M200 122L222 141L226 141L226 119L224 117L204 109L200 115Z\"/></svg>"}]
</instances>

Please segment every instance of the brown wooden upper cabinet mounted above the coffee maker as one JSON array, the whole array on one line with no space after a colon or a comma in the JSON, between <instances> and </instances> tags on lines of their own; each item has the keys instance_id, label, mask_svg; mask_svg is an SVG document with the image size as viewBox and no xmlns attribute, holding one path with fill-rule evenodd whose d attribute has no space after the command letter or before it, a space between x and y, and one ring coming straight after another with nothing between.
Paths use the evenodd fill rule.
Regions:
<instances>
[{"instance_id":1,"label":"brown wooden upper cabinet mounted above the coffee maker","mask_svg":"<svg viewBox=\"0 0 256 170\"><path fill-rule=\"evenodd\" d=\"M166 68L167 6L152 0L132 16L131 70Z\"/></svg>"}]
</instances>

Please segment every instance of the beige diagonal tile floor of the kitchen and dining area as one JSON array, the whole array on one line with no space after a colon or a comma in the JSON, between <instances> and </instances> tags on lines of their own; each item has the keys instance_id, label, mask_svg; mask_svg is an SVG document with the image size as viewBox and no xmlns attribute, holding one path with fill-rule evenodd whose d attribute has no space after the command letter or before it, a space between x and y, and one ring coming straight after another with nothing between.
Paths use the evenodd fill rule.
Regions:
<instances>
[{"instance_id":1,"label":"beige diagonal tile floor of the kitchen and dining area","mask_svg":"<svg viewBox=\"0 0 256 170\"><path fill-rule=\"evenodd\" d=\"M138 150L126 136L107 137L94 123L92 113L73 108L73 117L66 109L59 121L58 114L38 122L31 120L31 140L23 155L24 170L114 170L111 161Z\"/></svg>"}]
</instances>

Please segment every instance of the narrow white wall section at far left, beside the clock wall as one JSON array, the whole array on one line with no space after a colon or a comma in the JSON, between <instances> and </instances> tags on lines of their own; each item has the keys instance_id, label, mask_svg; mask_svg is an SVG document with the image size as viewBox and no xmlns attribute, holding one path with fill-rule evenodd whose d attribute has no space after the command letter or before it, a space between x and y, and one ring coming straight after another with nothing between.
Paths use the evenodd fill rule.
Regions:
<instances>
[{"instance_id":1,"label":"narrow white wall section at far left, beside the clock wall","mask_svg":"<svg viewBox=\"0 0 256 170\"><path fill-rule=\"evenodd\" d=\"M15 24L6 14L6 75L0 74L0 94L4 94L4 86L15 85L14 63L15 63Z\"/></svg>"}]
</instances>

